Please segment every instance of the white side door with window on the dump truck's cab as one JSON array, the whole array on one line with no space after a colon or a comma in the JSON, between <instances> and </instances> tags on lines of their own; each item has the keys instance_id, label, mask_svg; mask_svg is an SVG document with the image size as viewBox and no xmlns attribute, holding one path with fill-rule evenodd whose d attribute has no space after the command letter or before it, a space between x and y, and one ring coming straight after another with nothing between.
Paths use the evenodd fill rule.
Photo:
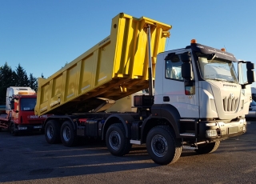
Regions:
<instances>
[{"instance_id":1,"label":"white side door with window on the dump truck's cab","mask_svg":"<svg viewBox=\"0 0 256 184\"><path fill-rule=\"evenodd\" d=\"M184 52L184 51L183 51ZM190 82L182 78L182 53L170 53L165 58L165 77L162 85L162 103L174 106L181 118L199 117L198 82L193 78ZM190 62L192 67L192 64ZM184 71L183 71L184 72Z\"/></svg>"}]
</instances>

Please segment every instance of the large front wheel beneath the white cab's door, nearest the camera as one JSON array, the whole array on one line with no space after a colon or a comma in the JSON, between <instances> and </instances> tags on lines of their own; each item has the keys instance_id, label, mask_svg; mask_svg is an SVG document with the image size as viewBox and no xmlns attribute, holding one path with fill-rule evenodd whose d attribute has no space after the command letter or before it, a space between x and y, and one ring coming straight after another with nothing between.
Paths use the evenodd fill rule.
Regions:
<instances>
[{"instance_id":1,"label":"large front wheel beneath the white cab's door, nearest the camera","mask_svg":"<svg viewBox=\"0 0 256 184\"><path fill-rule=\"evenodd\" d=\"M182 140L169 126L155 126L146 136L146 150L157 164L174 163L182 154Z\"/></svg>"}]
</instances>

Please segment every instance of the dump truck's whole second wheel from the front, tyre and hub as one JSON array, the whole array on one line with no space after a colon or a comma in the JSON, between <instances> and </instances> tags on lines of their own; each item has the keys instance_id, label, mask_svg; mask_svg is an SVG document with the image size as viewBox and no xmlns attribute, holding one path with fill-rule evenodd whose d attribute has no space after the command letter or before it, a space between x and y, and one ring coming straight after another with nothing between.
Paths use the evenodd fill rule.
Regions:
<instances>
[{"instance_id":1,"label":"dump truck's whole second wheel from the front, tyre and hub","mask_svg":"<svg viewBox=\"0 0 256 184\"><path fill-rule=\"evenodd\" d=\"M130 139L122 123L114 123L106 131L106 147L114 156L123 156L130 152Z\"/></svg>"}]
</instances>

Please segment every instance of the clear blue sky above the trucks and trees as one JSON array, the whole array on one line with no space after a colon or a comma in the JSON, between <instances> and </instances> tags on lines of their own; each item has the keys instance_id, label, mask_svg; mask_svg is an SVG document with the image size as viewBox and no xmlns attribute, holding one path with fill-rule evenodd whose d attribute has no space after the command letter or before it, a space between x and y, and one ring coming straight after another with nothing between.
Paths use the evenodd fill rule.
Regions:
<instances>
[{"instance_id":1,"label":"clear blue sky above the trucks and trees","mask_svg":"<svg viewBox=\"0 0 256 184\"><path fill-rule=\"evenodd\" d=\"M20 63L27 74L50 77L110 35L121 12L172 25L166 50L196 38L256 64L255 7L254 0L0 0L0 66Z\"/></svg>"}]
</instances>

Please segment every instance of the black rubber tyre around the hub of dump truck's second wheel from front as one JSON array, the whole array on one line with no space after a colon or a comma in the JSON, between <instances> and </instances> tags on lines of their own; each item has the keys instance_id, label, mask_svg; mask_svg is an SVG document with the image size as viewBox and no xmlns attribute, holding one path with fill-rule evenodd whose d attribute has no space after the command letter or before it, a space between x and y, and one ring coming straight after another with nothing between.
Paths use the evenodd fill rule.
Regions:
<instances>
[{"instance_id":1,"label":"black rubber tyre around the hub of dump truck's second wheel from front","mask_svg":"<svg viewBox=\"0 0 256 184\"><path fill-rule=\"evenodd\" d=\"M122 134L123 134L123 137L125 138L124 139L124 146L122 147L121 150L118 151L118 153L114 153L113 151L111 151L110 149L110 153L113 154L114 156L123 156L125 154L128 154L130 152L130 149L131 149L131 144L130 144L130 139L129 138L126 138L126 130L125 128L123 127L122 123L114 123L113 125L110 126L110 128L112 127L118 127L121 131L122 131ZM109 129L110 129L109 128ZM106 134L108 134L108 131L106 132ZM108 136L106 136L106 145L108 146Z\"/></svg>"}]
</instances>

